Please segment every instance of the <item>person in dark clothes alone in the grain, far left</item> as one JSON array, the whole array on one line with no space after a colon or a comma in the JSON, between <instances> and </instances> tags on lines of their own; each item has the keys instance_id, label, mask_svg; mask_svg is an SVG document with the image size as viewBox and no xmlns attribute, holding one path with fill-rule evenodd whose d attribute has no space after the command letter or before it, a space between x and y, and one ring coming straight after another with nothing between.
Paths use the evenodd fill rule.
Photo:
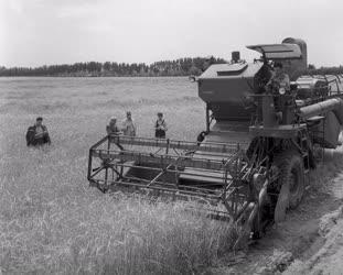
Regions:
<instances>
[{"instance_id":1,"label":"person in dark clothes alone in the grain, far left","mask_svg":"<svg viewBox=\"0 0 343 275\"><path fill-rule=\"evenodd\" d=\"M35 120L35 124L29 127L26 132L26 145L39 146L43 144L51 144L49 132L45 125L43 125L43 118L39 117Z\"/></svg>"}]
</instances>

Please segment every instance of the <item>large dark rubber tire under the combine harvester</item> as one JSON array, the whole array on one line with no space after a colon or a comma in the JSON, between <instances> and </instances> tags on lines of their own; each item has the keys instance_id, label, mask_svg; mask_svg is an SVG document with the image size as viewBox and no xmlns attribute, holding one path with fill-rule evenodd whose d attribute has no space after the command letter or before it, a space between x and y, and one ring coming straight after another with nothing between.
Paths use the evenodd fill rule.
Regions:
<instances>
[{"instance_id":1,"label":"large dark rubber tire under the combine harvester","mask_svg":"<svg viewBox=\"0 0 343 275\"><path fill-rule=\"evenodd\" d=\"M300 204L304 193L304 167L300 153L290 150L278 154L274 160L275 165L279 168L279 186L289 184L289 208L293 209ZM294 177L296 186L291 186Z\"/></svg>"}]
</instances>

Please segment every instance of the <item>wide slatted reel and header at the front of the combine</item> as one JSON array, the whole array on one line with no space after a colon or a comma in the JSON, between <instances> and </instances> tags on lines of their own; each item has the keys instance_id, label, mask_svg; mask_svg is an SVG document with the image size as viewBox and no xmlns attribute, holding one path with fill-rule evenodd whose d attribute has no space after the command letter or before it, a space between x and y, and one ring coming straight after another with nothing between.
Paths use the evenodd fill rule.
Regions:
<instances>
[{"instance_id":1,"label":"wide slatted reel and header at the front of the combine","mask_svg":"<svg viewBox=\"0 0 343 275\"><path fill-rule=\"evenodd\" d=\"M104 193L202 202L208 217L234 222L239 240L262 229L268 175L239 144L108 135L89 150L88 180Z\"/></svg>"}]
</instances>

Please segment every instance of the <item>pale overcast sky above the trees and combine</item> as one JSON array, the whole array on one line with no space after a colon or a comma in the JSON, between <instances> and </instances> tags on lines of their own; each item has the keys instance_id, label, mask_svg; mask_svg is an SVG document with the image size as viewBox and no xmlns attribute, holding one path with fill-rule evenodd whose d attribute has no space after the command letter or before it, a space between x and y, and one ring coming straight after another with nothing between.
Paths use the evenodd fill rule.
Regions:
<instances>
[{"instance_id":1,"label":"pale overcast sky above the trees and combine","mask_svg":"<svg viewBox=\"0 0 343 275\"><path fill-rule=\"evenodd\" d=\"M301 37L309 63L343 65L342 0L0 0L0 66L255 56Z\"/></svg>"}]
</instances>

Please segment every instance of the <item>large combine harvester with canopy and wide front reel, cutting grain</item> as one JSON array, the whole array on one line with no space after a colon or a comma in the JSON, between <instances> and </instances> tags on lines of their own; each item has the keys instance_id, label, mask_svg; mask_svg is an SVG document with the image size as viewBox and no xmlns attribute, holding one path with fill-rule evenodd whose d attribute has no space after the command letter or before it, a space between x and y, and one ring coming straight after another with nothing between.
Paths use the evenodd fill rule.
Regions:
<instances>
[{"instance_id":1,"label":"large combine harvester with canopy and wide front reel, cutting grain","mask_svg":"<svg viewBox=\"0 0 343 275\"><path fill-rule=\"evenodd\" d=\"M240 239L283 220L304 194L317 148L339 145L342 77L300 76L307 69L301 40L247 47L260 59L246 63L233 52L231 63L194 78L206 102L197 142L105 136L89 150L90 185L205 202L200 209L234 222ZM276 62L290 76L290 90L266 89Z\"/></svg>"}]
</instances>

